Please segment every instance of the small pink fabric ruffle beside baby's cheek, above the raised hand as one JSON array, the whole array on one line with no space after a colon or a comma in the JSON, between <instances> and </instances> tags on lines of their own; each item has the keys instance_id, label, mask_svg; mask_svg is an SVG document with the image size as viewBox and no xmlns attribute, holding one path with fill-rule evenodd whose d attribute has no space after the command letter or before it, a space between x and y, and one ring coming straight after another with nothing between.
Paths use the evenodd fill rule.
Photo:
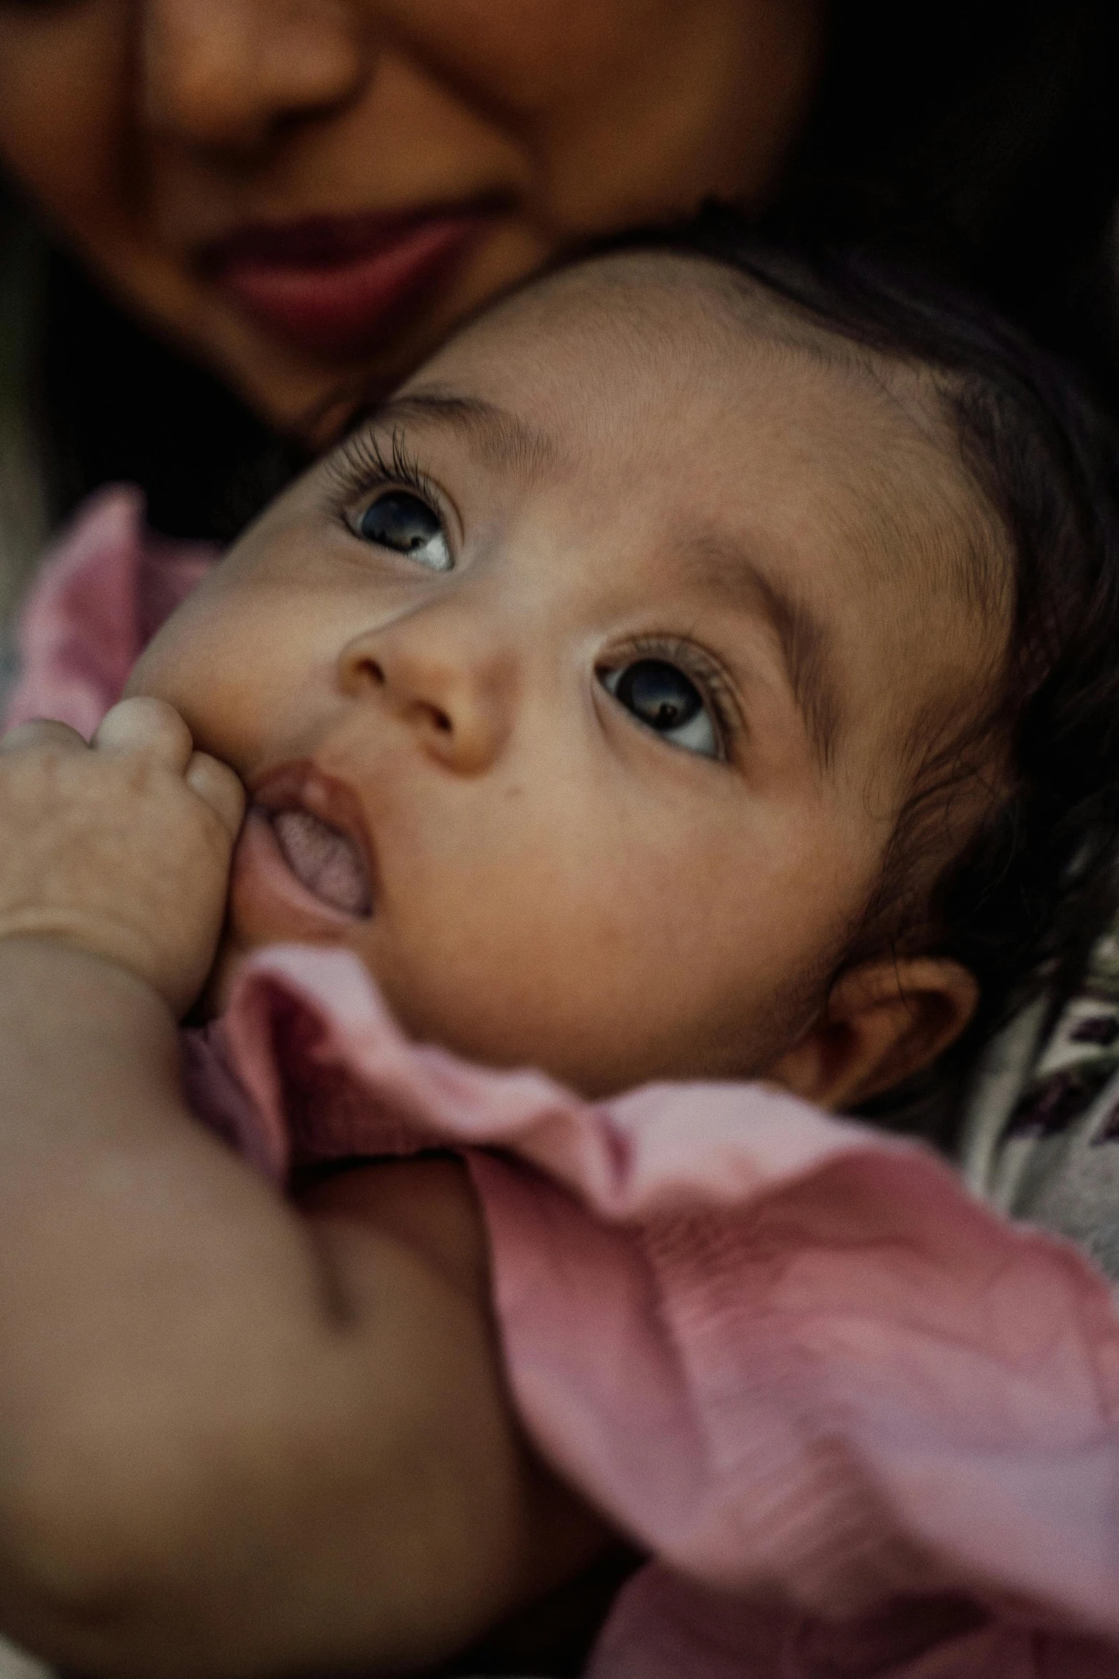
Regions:
<instances>
[{"instance_id":1,"label":"small pink fabric ruffle beside baby's cheek, above the raised hand","mask_svg":"<svg viewBox=\"0 0 1119 1679\"><path fill-rule=\"evenodd\" d=\"M84 504L49 551L20 615L20 675L5 727L54 717L89 739L121 698L144 643L216 559L144 527L139 490Z\"/></svg>"}]
</instances>

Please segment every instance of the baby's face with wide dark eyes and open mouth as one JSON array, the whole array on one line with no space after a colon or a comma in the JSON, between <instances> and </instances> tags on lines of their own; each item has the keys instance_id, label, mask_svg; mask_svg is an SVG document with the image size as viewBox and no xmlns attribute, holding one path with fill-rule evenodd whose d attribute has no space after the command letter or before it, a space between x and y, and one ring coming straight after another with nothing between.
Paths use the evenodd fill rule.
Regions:
<instances>
[{"instance_id":1,"label":"baby's face with wide dark eyes and open mouth","mask_svg":"<svg viewBox=\"0 0 1119 1679\"><path fill-rule=\"evenodd\" d=\"M250 791L218 997L337 944L413 1034L589 1093L812 1024L909 729L990 646L916 376L748 307L656 257L513 299L164 626L131 692Z\"/></svg>"}]
</instances>

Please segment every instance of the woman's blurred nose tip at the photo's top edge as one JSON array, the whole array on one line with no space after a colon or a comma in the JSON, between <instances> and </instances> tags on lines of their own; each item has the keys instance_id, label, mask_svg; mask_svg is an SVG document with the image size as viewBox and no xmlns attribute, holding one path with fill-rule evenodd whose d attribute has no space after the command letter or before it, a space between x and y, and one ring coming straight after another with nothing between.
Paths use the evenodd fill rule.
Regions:
<instances>
[{"instance_id":1,"label":"woman's blurred nose tip at the photo's top edge","mask_svg":"<svg viewBox=\"0 0 1119 1679\"><path fill-rule=\"evenodd\" d=\"M141 18L144 119L195 146L258 151L369 71L352 0L143 0Z\"/></svg>"}]
</instances>

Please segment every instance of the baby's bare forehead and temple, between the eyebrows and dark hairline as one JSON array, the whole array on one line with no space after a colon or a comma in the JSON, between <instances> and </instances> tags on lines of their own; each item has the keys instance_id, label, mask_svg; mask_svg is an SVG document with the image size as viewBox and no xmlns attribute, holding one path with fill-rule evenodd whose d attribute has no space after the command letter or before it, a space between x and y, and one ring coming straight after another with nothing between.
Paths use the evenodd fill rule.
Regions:
<instances>
[{"instance_id":1,"label":"baby's bare forehead and temple, between the eyebrows and dark hairline","mask_svg":"<svg viewBox=\"0 0 1119 1679\"><path fill-rule=\"evenodd\" d=\"M819 626L800 645L830 650L864 762L901 761L921 717L968 709L1005 646L1008 544L945 381L718 264L564 270L488 311L401 395L406 413L453 410L460 443L473 426L515 507L559 505L591 534L596 588L629 586L644 608L690 566L710 583L725 556L731 611L745 576L773 621Z\"/></svg>"}]
</instances>

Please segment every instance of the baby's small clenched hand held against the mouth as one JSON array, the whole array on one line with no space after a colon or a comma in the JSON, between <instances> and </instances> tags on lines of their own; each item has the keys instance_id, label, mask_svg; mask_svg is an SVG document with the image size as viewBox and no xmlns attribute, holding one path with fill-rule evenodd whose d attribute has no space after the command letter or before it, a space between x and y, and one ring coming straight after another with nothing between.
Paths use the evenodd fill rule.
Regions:
<instances>
[{"instance_id":1,"label":"baby's small clenched hand held against the mouth","mask_svg":"<svg viewBox=\"0 0 1119 1679\"><path fill-rule=\"evenodd\" d=\"M87 747L65 724L0 740L0 937L131 969L176 1016L213 964L245 792L163 700L122 700Z\"/></svg>"}]
</instances>

